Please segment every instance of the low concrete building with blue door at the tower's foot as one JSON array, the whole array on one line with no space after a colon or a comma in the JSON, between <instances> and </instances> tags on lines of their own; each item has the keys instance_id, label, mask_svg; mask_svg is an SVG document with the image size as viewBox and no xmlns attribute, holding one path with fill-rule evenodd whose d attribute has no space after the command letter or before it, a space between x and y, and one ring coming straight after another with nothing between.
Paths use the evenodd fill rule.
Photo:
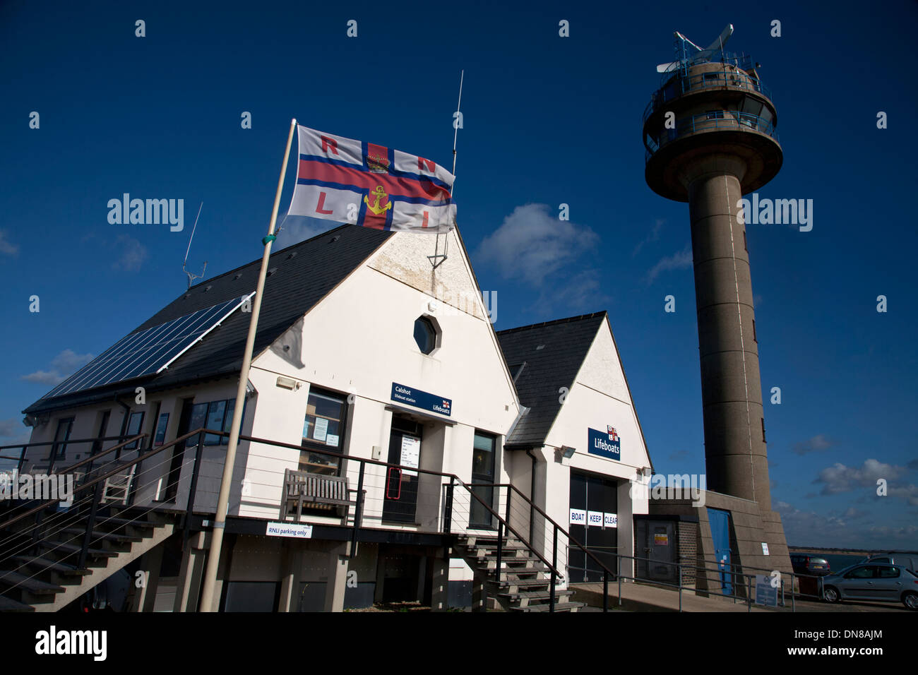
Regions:
<instances>
[{"instance_id":1,"label":"low concrete building with blue door at the tower's foot","mask_svg":"<svg viewBox=\"0 0 918 675\"><path fill-rule=\"evenodd\" d=\"M709 510L714 510L714 513ZM728 515L723 516L723 512ZM774 571L778 571L783 579L784 591L789 594L793 568L790 565L788 544L778 513L763 510L755 501L709 490L703 492L697 501L651 500L649 514L644 518L660 523L663 527L670 521L675 523L687 518L692 521L698 519L694 546L676 540L674 546L679 546L679 550L672 552L679 562L687 566L687 571L689 566L694 566L694 574L686 573L685 577L694 578L697 593L722 594L727 591L728 594L735 594L740 598L748 598L751 593L751 597L755 599L755 576L770 576ZM727 523L725 533L723 528L717 525L724 522ZM653 533L655 529L648 527L646 531ZM653 537L654 534L648 536ZM724 536L729 537L729 545L724 544ZM762 546L763 544L765 546ZM640 551L636 554L638 556L651 557L648 552L654 552L654 557L660 555L659 548L654 546L653 541L636 541L634 548L635 551ZM724 565L722 561L727 549L729 553L726 559L729 565Z\"/></svg>"}]
</instances>

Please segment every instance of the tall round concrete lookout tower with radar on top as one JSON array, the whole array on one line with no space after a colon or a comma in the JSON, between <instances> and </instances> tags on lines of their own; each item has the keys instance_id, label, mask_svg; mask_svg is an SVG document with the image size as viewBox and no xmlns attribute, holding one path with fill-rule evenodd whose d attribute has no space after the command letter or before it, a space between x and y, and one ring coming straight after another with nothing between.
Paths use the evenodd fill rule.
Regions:
<instances>
[{"instance_id":1,"label":"tall round concrete lookout tower with radar on top","mask_svg":"<svg viewBox=\"0 0 918 675\"><path fill-rule=\"evenodd\" d=\"M657 66L661 85L644 110L644 177L656 194L689 202L708 489L760 516L741 536L741 502L722 504L746 564L785 568L776 567L787 544L771 511L749 253L737 218L739 200L778 174L783 153L758 64L723 51L732 34L731 25L702 49L676 33L677 60Z\"/></svg>"}]
</instances>

